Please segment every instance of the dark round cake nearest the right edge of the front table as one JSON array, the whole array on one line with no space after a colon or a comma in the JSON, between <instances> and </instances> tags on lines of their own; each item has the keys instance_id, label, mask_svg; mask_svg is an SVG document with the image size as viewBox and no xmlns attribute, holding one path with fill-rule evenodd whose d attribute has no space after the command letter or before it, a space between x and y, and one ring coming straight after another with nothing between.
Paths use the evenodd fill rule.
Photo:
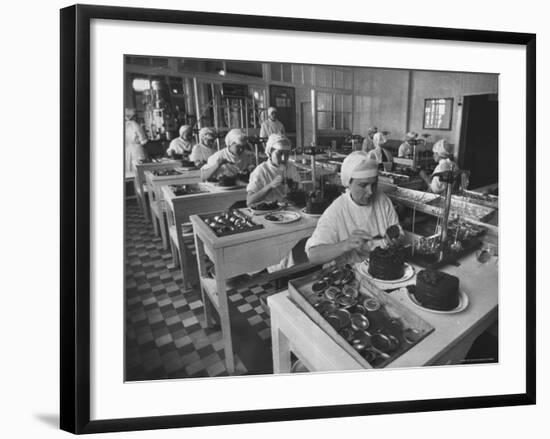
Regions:
<instances>
[{"instance_id":1,"label":"dark round cake nearest the right edge of the front table","mask_svg":"<svg viewBox=\"0 0 550 439\"><path fill-rule=\"evenodd\" d=\"M421 270L416 276L414 297L424 307L451 311L459 304L458 277L437 270Z\"/></svg>"}]
</instances>

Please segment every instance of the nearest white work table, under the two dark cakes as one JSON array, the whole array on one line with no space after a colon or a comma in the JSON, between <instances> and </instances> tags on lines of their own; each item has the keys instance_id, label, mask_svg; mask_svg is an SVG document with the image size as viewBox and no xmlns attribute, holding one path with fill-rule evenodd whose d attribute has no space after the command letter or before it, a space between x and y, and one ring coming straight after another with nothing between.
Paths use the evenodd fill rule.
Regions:
<instances>
[{"instance_id":1,"label":"nearest white work table, under the two dark cakes","mask_svg":"<svg viewBox=\"0 0 550 439\"><path fill-rule=\"evenodd\" d=\"M415 267L418 272L418 267ZM416 307L403 290L392 297L431 324L435 330L395 359L387 367L416 367L458 364L474 340L498 315L498 259L480 264L475 255L466 256L460 266L442 271L460 279L468 295L468 307L456 314L438 314ZM362 366L314 323L284 291L268 298L271 312L274 373L290 372L290 352L310 371L361 369Z\"/></svg>"}]
</instances>

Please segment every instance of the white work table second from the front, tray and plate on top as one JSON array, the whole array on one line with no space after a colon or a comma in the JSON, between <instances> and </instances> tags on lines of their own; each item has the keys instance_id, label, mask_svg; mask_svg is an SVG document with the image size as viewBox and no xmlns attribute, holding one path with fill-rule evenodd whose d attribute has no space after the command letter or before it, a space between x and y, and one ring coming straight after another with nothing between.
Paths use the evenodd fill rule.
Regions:
<instances>
[{"instance_id":1,"label":"white work table second from the front, tray and plate on top","mask_svg":"<svg viewBox=\"0 0 550 439\"><path fill-rule=\"evenodd\" d=\"M294 208L287 210L298 211ZM248 209L241 211L250 214ZM253 217L253 221L262 224L262 229L217 237L199 216L191 216L206 321L209 324L212 321L213 305L221 321L225 361L229 373L234 372L235 364L226 281L231 277L255 272L278 263L301 239L311 236L317 220L317 217L302 214L296 222L273 224L263 216L257 215ZM214 263L215 279L207 274L205 255Z\"/></svg>"}]
</instances>

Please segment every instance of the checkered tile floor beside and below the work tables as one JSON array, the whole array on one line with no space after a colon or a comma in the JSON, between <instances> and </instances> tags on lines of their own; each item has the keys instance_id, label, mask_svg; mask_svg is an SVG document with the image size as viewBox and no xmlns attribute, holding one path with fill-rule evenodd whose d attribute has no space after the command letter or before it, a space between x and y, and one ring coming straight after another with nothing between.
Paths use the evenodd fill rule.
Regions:
<instances>
[{"instance_id":1,"label":"checkered tile floor beside and below the work tables","mask_svg":"<svg viewBox=\"0 0 550 439\"><path fill-rule=\"evenodd\" d=\"M219 325L207 327L200 290L182 274L136 201L126 204L125 372L127 381L227 375ZM272 373L269 316L260 298L272 283L229 291L237 374Z\"/></svg>"}]
</instances>

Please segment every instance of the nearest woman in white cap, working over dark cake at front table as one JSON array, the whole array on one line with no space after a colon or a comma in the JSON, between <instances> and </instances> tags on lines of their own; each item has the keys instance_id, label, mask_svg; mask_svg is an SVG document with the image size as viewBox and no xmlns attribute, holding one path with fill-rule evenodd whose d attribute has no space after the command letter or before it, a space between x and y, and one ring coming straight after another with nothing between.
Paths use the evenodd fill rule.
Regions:
<instances>
[{"instance_id":1,"label":"nearest woman in white cap, working over dark cake at front table","mask_svg":"<svg viewBox=\"0 0 550 439\"><path fill-rule=\"evenodd\" d=\"M306 243L314 264L361 262L376 247L403 237L391 200L378 190L377 161L363 151L353 152L342 163L341 178L346 192L325 210ZM399 227L399 236L392 240L386 231L394 225Z\"/></svg>"}]
</instances>

